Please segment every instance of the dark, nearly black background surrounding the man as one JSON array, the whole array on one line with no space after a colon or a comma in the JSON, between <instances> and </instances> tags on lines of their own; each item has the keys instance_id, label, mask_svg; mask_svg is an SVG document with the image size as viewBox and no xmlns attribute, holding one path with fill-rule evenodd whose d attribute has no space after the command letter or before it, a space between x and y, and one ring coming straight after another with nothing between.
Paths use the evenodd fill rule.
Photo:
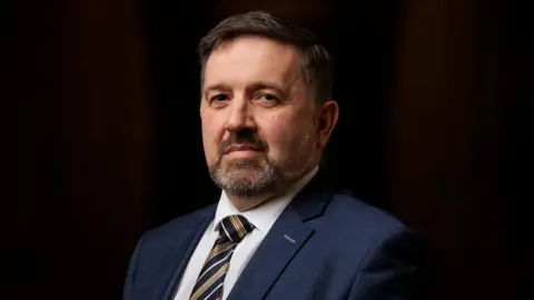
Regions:
<instances>
[{"instance_id":1,"label":"dark, nearly black background surrounding the man","mask_svg":"<svg viewBox=\"0 0 534 300\"><path fill-rule=\"evenodd\" d=\"M250 9L334 53L328 171L427 238L438 299L526 298L532 1L180 2L2 2L1 299L120 299L139 236L218 200L195 48Z\"/></svg>"}]
</instances>

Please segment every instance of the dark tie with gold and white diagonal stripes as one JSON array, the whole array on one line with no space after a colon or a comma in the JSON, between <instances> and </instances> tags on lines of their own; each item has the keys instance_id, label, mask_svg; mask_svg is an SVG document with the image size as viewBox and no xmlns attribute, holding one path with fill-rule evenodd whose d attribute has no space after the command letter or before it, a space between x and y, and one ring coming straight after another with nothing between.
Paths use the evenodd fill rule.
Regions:
<instances>
[{"instance_id":1,"label":"dark tie with gold and white diagonal stripes","mask_svg":"<svg viewBox=\"0 0 534 300\"><path fill-rule=\"evenodd\" d=\"M219 237L195 283L190 300L218 300L222 298L222 283L230 258L239 241L253 231L254 226L239 214L220 221Z\"/></svg>"}]
</instances>

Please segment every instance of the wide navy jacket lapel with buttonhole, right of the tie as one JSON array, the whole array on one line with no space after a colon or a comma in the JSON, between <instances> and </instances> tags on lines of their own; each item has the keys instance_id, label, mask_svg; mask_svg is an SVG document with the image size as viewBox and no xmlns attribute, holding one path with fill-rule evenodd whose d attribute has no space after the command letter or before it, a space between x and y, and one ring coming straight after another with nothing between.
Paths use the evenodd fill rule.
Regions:
<instances>
[{"instance_id":1,"label":"wide navy jacket lapel with buttonhole, right of the tie","mask_svg":"<svg viewBox=\"0 0 534 300\"><path fill-rule=\"evenodd\" d=\"M231 289L228 300L264 299L286 266L312 237L306 220L322 214L330 193L318 173L278 217Z\"/></svg>"}]
</instances>

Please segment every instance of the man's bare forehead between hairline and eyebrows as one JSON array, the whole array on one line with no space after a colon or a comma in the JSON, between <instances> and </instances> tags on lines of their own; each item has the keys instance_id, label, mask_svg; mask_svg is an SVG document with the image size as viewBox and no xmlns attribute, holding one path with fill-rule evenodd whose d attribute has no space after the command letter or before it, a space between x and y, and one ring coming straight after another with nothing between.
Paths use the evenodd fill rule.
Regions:
<instances>
[{"instance_id":1,"label":"man's bare forehead between hairline and eyebrows","mask_svg":"<svg viewBox=\"0 0 534 300\"><path fill-rule=\"evenodd\" d=\"M300 77L299 59L294 46L256 36L238 37L225 41L210 54L204 83L287 83Z\"/></svg>"}]
</instances>

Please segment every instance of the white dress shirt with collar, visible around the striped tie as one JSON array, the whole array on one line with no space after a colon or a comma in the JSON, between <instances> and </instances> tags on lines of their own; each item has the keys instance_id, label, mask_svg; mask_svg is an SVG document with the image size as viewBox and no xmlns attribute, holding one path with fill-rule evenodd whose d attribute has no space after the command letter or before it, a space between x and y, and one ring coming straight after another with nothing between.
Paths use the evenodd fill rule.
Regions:
<instances>
[{"instance_id":1,"label":"white dress shirt with collar, visible around the striped tie","mask_svg":"<svg viewBox=\"0 0 534 300\"><path fill-rule=\"evenodd\" d=\"M178 284L175 300L189 299L206 258L208 257L211 248L215 244L215 241L219 236L219 222L227 216L241 214L247 218L247 220L253 223L255 228L237 244L236 250L230 258L230 266L228 268L228 272L226 273L222 288L222 300L225 300L239 278L239 274L245 269L245 266L247 266L247 262L250 260L254 252L256 252L256 249L261 243L267 232L269 232L269 229L273 227L276 219L278 219L287 204L289 204L293 198L295 198L295 196L304 188L304 186L312 180L312 178L317 173L317 170L318 167L315 167L309 173L293 184L288 192L283 197L271 199L264 204L243 212L238 211L231 204L226 193L222 191L217 206L217 211L215 213L215 219L206 229L206 232L189 259L180 283Z\"/></svg>"}]
</instances>

